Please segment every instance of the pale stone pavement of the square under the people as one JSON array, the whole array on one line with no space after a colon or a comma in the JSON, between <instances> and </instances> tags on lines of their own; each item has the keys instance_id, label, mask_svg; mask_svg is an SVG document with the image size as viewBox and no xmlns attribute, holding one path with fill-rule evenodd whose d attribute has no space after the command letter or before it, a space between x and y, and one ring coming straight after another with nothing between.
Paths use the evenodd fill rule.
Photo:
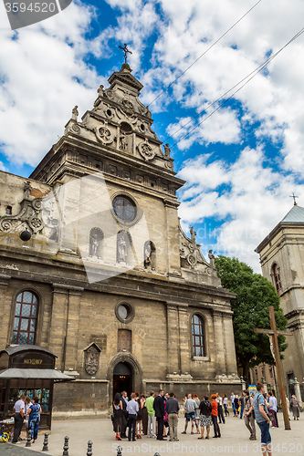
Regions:
<instances>
[{"instance_id":1,"label":"pale stone pavement of the square under the people","mask_svg":"<svg viewBox=\"0 0 304 456\"><path fill-rule=\"evenodd\" d=\"M291 420L291 430L284 430L283 416L278 414L279 428L271 429L273 441L273 456L285 454L290 456L304 456L304 413L300 414L300 420ZM64 437L69 437L69 456L86 456L87 442L93 441L93 456L110 456L117 451L118 444L122 446L122 456L129 455L154 455L159 452L161 456L174 454L184 456L185 454L233 454L255 456L261 454L259 448L260 431L257 429L257 440L249 440L249 433L244 420L239 420L230 415L225 425L221 425L221 439L213 439L213 430L210 433L210 440L197 440L198 435L191 435L189 429L186 435L182 435L184 419L179 420L178 438L179 441L170 442L148 439L142 436L141 440L116 441L110 420L64 420L53 421L52 432L49 436L49 452L52 456L62 456ZM43 436L39 436L37 443L32 445L31 450L41 451ZM26 442L18 444L18 451L25 447ZM0 455L21 455L32 456L33 452L25 450L24 453L2 452L0 444ZM5 450L6 451L6 450ZM14 450L16 451L16 450ZM41 453L40 453L41 454Z\"/></svg>"}]
</instances>

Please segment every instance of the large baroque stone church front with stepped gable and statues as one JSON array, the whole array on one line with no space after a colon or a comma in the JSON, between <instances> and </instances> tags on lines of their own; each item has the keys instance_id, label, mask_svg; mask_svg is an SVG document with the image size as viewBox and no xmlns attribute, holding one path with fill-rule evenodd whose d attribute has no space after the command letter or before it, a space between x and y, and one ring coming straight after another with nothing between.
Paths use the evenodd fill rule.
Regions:
<instances>
[{"instance_id":1,"label":"large baroque stone church front with stepped gable and statues","mask_svg":"<svg viewBox=\"0 0 304 456\"><path fill-rule=\"evenodd\" d=\"M0 172L0 350L45 347L54 416L102 416L126 389L240 391L230 300L183 233L168 145L124 64L28 179Z\"/></svg>"}]
</instances>

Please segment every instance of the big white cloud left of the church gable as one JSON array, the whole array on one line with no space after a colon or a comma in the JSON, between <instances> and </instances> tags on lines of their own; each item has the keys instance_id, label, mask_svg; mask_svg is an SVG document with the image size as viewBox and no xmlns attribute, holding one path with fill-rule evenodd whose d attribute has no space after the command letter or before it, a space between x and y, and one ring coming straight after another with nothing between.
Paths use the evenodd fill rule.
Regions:
<instances>
[{"instance_id":1,"label":"big white cloud left of the church gable","mask_svg":"<svg viewBox=\"0 0 304 456\"><path fill-rule=\"evenodd\" d=\"M83 60L92 10L73 3L57 16L2 35L0 141L10 161L37 164L62 134L71 109L93 102L99 80ZM5 15L0 27L8 26Z\"/></svg>"}]
</instances>

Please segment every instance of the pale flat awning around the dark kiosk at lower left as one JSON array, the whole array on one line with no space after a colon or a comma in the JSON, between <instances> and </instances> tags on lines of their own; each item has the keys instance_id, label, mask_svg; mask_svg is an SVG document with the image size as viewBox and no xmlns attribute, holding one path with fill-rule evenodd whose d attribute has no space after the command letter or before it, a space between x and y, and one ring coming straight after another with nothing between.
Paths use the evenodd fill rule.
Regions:
<instances>
[{"instance_id":1,"label":"pale flat awning around the dark kiosk at lower left","mask_svg":"<svg viewBox=\"0 0 304 456\"><path fill-rule=\"evenodd\" d=\"M70 381L76 378L63 374L56 369L8 368L0 372L0 379L32 378L57 381Z\"/></svg>"}]
</instances>

